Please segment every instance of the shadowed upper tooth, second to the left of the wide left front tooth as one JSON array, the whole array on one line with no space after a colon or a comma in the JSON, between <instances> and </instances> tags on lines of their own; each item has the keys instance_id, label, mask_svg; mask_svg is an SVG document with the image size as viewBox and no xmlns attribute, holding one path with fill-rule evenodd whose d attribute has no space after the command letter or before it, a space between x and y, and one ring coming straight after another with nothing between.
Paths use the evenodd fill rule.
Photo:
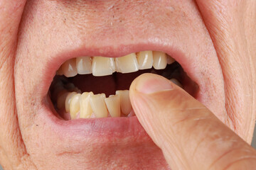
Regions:
<instances>
[{"instance_id":1,"label":"shadowed upper tooth, second to the left of the wide left front tooth","mask_svg":"<svg viewBox=\"0 0 256 170\"><path fill-rule=\"evenodd\" d=\"M61 69L65 77L74 77L76 74L78 74L75 58L64 62Z\"/></svg>"}]
</instances>

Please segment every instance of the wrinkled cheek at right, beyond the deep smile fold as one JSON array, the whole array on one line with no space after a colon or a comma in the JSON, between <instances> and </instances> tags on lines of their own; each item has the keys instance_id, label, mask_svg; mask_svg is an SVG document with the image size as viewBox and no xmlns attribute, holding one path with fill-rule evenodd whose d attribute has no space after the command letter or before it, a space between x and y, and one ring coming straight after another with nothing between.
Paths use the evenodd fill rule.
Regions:
<instances>
[{"instance_id":1,"label":"wrinkled cheek at right, beyond the deep smile fold","mask_svg":"<svg viewBox=\"0 0 256 170\"><path fill-rule=\"evenodd\" d=\"M225 81L225 108L229 127L252 140L255 125L255 1L198 0L211 35ZM252 9L252 6L254 8ZM251 21L253 19L254 21ZM252 22L252 23L251 23ZM253 35L252 35L253 34Z\"/></svg>"}]
</instances>

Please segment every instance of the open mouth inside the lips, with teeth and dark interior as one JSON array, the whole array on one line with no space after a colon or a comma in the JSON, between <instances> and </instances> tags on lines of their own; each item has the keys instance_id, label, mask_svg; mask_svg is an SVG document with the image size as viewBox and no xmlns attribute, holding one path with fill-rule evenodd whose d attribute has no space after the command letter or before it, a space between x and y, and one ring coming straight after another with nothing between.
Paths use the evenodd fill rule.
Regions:
<instances>
[{"instance_id":1,"label":"open mouth inside the lips, with teeth and dark interior","mask_svg":"<svg viewBox=\"0 0 256 170\"><path fill-rule=\"evenodd\" d=\"M191 96L197 84L178 62L164 52L143 51L124 57L78 57L56 72L49 96L63 120L134 116L129 86L141 74L159 74Z\"/></svg>"}]
</instances>

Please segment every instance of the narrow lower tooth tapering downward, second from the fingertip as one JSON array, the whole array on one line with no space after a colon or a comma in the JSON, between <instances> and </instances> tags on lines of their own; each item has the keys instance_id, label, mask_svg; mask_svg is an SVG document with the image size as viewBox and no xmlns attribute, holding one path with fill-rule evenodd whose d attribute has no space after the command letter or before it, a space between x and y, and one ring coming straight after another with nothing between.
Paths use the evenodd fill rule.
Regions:
<instances>
[{"instance_id":1,"label":"narrow lower tooth tapering downward, second from the fingertip","mask_svg":"<svg viewBox=\"0 0 256 170\"><path fill-rule=\"evenodd\" d=\"M120 117L121 110L119 95L110 95L108 98L105 98L105 103L111 117Z\"/></svg>"}]
</instances>

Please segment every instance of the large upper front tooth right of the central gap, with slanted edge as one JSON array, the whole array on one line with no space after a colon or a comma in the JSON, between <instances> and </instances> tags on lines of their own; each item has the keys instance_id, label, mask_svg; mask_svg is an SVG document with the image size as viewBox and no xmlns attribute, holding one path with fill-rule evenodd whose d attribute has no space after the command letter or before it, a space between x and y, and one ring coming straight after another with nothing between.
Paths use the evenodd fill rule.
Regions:
<instances>
[{"instance_id":1,"label":"large upper front tooth right of the central gap, with slanted edge","mask_svg":"<svg viewBox=\"0 0 256 170\"><path fill-rule=\"evenodd\" d=\"M117 72L130 73L137 72L139 70L135 53L126 55L124 57L115 58L115 63L117 66Z\"/></svg>"}]
</instances>

